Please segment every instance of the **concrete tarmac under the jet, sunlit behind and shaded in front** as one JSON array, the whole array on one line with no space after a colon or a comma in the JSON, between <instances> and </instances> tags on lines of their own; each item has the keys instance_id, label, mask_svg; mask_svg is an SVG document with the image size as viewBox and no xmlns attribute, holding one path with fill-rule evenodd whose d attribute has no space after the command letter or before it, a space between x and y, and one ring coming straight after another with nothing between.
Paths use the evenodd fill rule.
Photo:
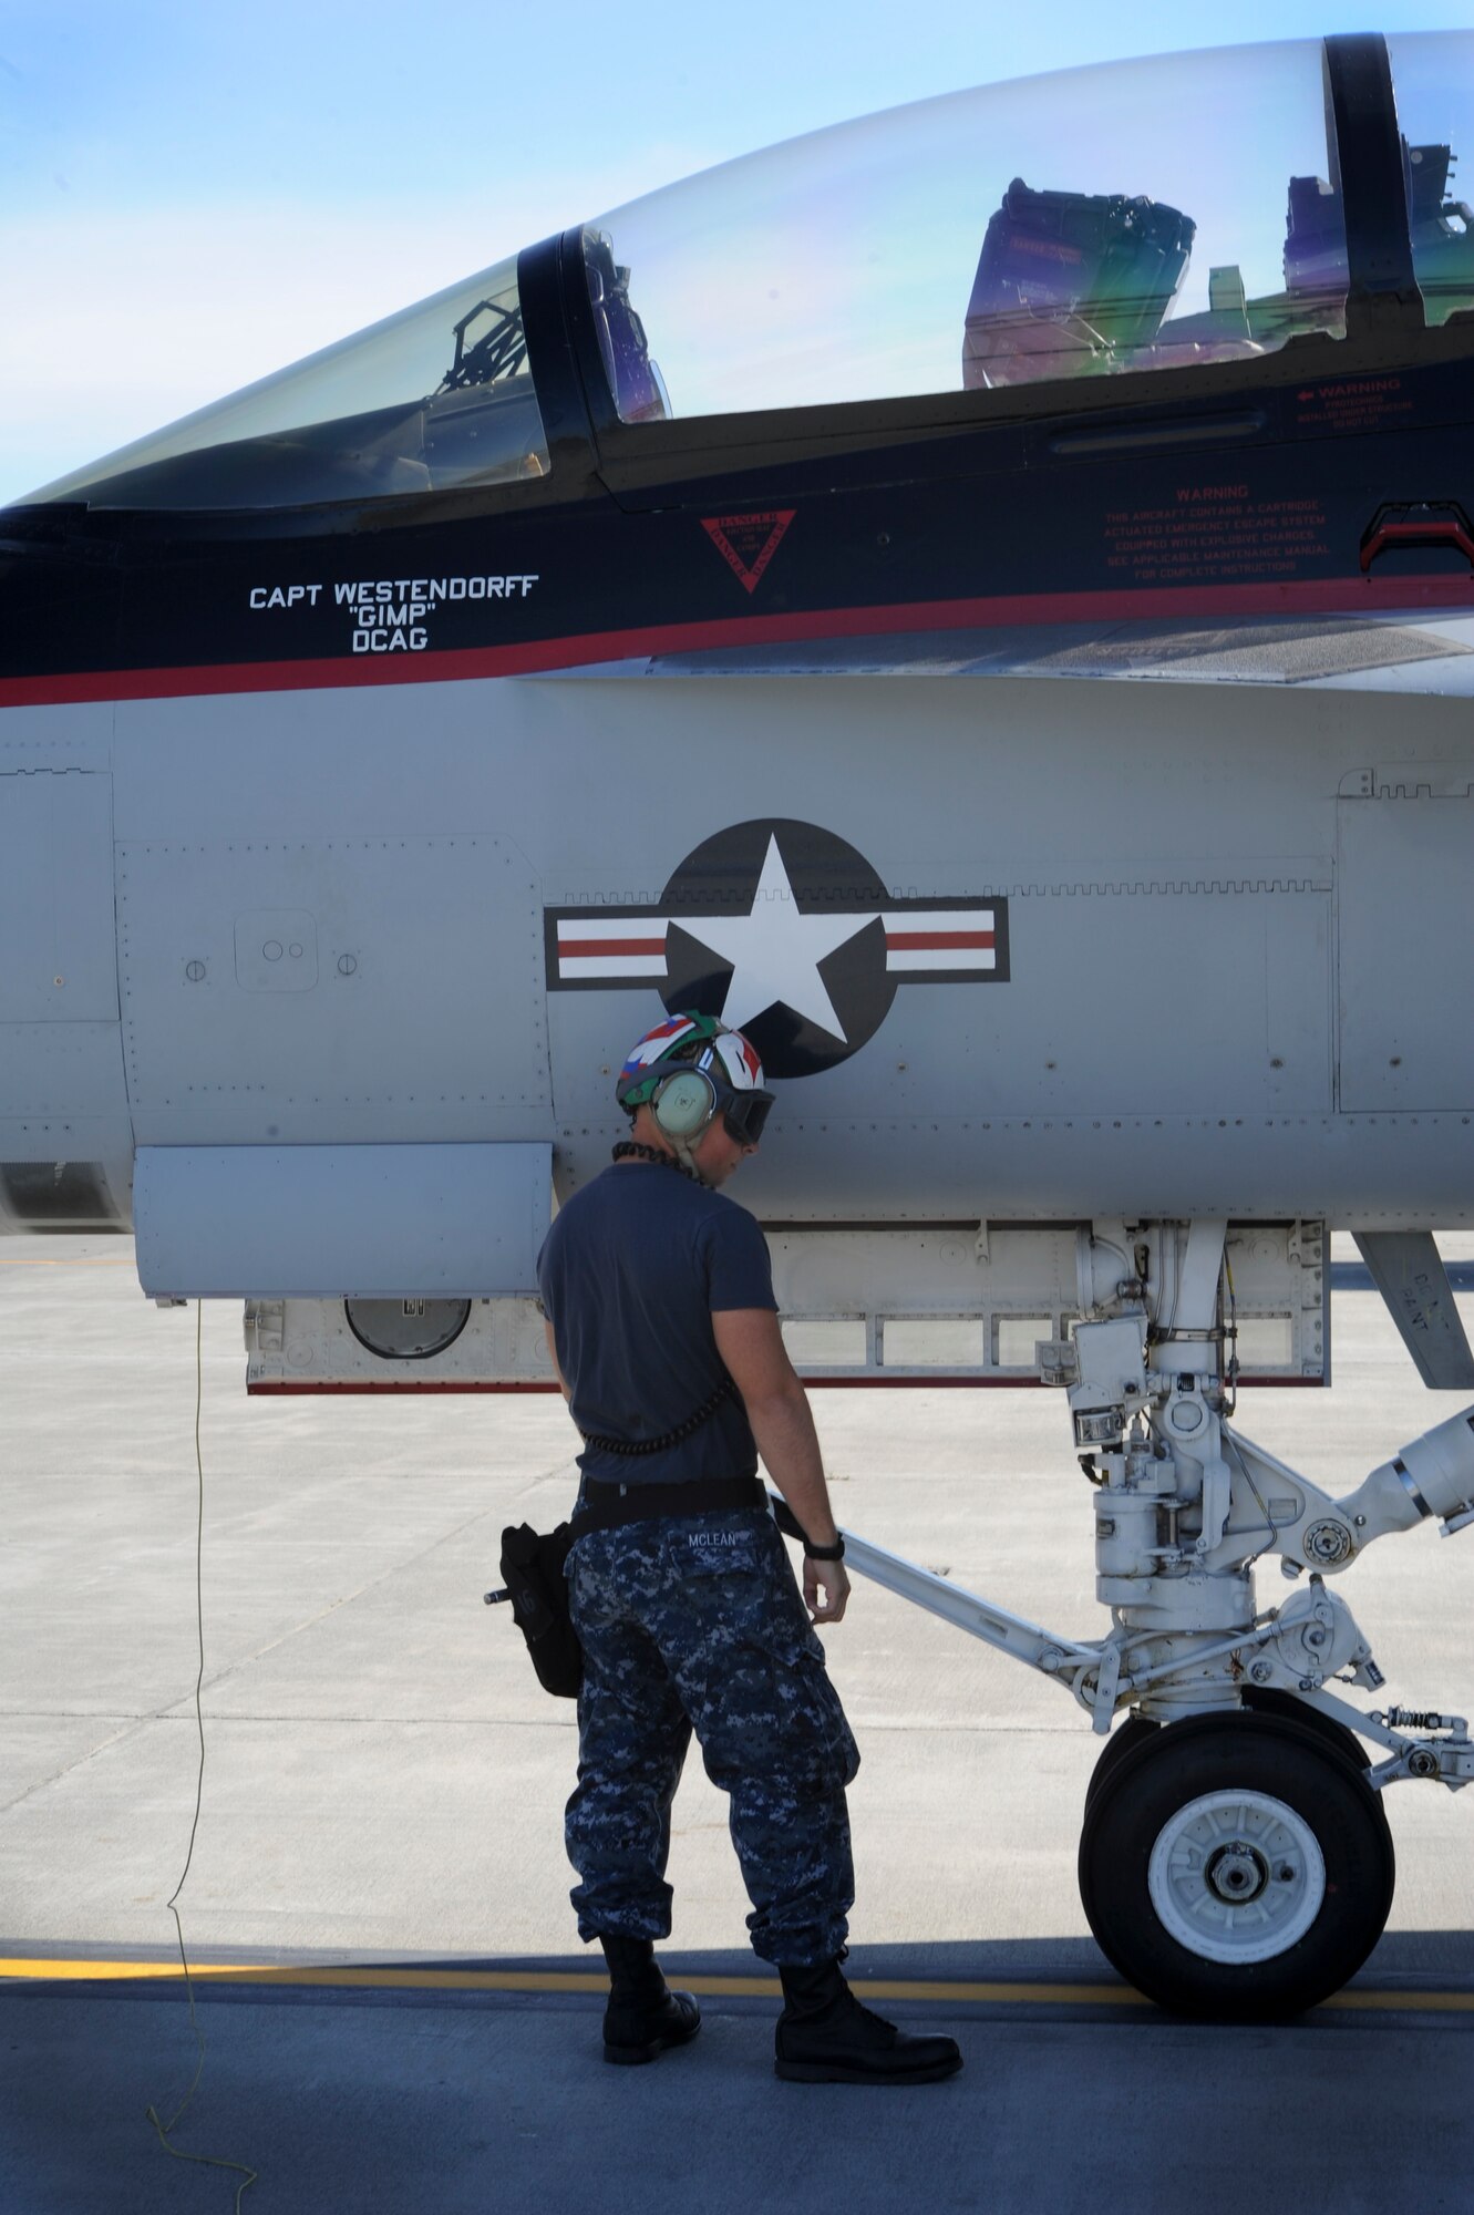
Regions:
<instances>
[{"instance_id":1,"label":"concrete tarmac under the jet, sunlit behind and shaded in front","mask_svg":"<svg viewBox=\"0 0 1474 2215\"><path fill-rule=\"evenodd\" d=\"M199 1763L197 1311L155 1311L126 1243L0 1240L0 2208L228 2208L241 2177L170 2162L144 2120L177 2106L195 2044L179 1980L137 1974L177 1967L166 1900ZM1330 1391L1244 1393L1237 1420L1346 1493L1454 1409L1370 1291L1335 1296L1335 1364ZM1339 2005L1284 2029L1166 2022L1080 1912L1084 1717L859 1582L826 1637L863 1750L852 1969L887 2011L952 2029L967 2069L885 2098L775 2082L775 2000L697 1763L668 1960L706 2027L653 2069L604 2069L560 1843L571 1708L480 1604L502 1524L569 1508L562 1402L248 1402L224 1305L204 1311L201 1382L206 1772L179 1909L215 1976L177 2142L259 2168L246 2208L699 2193L1065 2215L1104 2193L1208 2215L1264 2173L1339 2211L1474 2199L1474 1803L1394 1788L1392 1920ZM1098 1635L1060 1395L814 1404L845 1526ZM1270 1566L1266 1601L1275 1584ZM1474 1712L1474 1533L1385 1539L1341 1588L1381 1701Z\"/></svg>"}]
</instances>

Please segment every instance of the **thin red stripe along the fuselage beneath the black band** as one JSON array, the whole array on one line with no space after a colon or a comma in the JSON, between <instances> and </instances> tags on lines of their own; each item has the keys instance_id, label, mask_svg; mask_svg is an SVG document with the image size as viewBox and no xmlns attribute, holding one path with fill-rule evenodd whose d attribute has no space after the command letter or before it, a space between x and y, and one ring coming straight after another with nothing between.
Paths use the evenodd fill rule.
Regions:
<instances>
[{"instance_id":1,"label":"thin red stripe along the fuselage beneath the black band","mask_svg":"<svg viewBox=\"0 0 1474 2215\"><path fill-rule=\"evenodd\" d=\"M1379 616L1421 607L1474 609L1474 578L1341 578L1301 585L1186 585L1177 591L1011 594L996 600L912 600L887 607L821 607L788 616L726 616L713 622L660 622L629 631L538 638L516 647L427 649L385 662L332 656L303 662L217 662L168 669L89 669L42 678L0 678L0 707L60 707L80 700L184 700L204 693L330 691L347 684L456 684L478 678L582 669L653 653L713 647L799 645L808 638L879 638L887 631L965 631L1018 622L1098 622L1193 616Z\"/></svg>"}]
</instances>

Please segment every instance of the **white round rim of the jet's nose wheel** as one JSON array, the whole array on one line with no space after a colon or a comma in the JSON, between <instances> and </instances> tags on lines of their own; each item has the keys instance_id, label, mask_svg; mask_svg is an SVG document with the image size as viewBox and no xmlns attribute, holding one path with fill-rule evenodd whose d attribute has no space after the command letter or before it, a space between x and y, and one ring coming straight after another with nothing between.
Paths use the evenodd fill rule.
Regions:
<instances>
[{"instance_id":1,"label":"white round rim of the jet's nose wheel","mask_svg":"<svg viewBox=\"0 0 1474 2215\"><path fill-rule=\"evenodd\" d=\"M1248 1967L1306 1936L1326 1900L1326 1856L1270 1792L1204 1792L1162 1825L1146 1887L1184 1951Z\"/></svg>"}]
</instances>

